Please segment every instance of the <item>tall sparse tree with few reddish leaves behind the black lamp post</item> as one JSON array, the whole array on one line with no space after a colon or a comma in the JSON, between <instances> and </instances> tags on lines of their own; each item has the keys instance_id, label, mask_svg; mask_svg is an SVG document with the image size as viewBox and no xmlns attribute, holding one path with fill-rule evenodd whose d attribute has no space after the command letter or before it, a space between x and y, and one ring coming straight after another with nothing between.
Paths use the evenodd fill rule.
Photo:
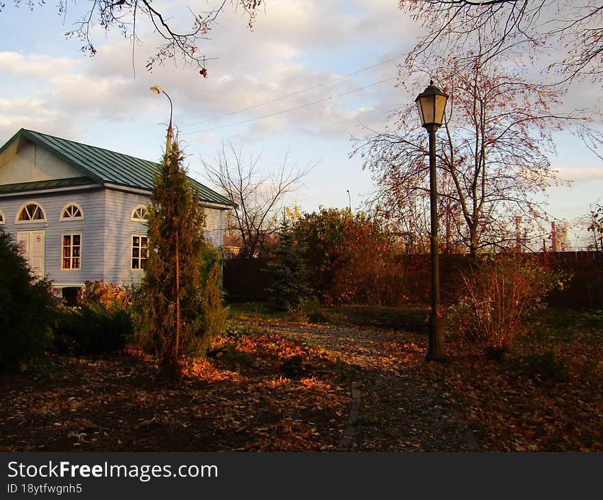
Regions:
<instances>
[{"instance_id":1,"label":"tall sparse tree with few reddish leaves behind the black lamp post","mask_svg":"<svg viewBox=\"0 0 603 500\"><path fill-rule=\"evenodd\" d=\"M484 247L515 245L516 216L544 218L531 195L557 182L547 158L554 151L551 130L578 118L552 111L561 90L543 92L524 81L521 68L513 71L473 55L470 60L434 58L434 73L450 94L437 142L440 215L444 210L449 216L450 244L462 240L475 255ZM413 66L407 71L412 72L407 84L429 79ZM408 221L429 195L428 134L418 126L414 105L395 118L392 132L357 140L354 152L365 157L380 204Z\"/></svg>"}]
</instances>

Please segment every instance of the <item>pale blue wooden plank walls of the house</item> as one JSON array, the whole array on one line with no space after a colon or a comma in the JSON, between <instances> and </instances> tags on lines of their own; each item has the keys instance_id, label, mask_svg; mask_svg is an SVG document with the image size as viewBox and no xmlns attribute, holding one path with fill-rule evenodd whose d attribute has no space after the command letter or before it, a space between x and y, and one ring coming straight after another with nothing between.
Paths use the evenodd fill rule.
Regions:
<instances>
[{"instance_id":1,"label":"pale blue wooden plank walls of the house","mask_svg":"<svg viewBox=\"0 0 603 500\"><path fill-rule=\"evenodd\" d=\"M47 220L16 223L17 213L25 203L36 201L45 210ZM84 211L84 219L60 221L60 214L70 203ZM132 269L132 235L146 235L147 225L132 221L132 211L149 203L149 197L119 190L97 189L64 193L0 198L3 226L16 240L19 231L45 231L45 276L57 288L82 286L84 282L103 279L118 285L136 284L143 270ZM223 242L225 210L205 208L206 238L215 247ZM81 266L65 270L62 262L62 236L82 234Z\"/></svg>"}]
</instances>

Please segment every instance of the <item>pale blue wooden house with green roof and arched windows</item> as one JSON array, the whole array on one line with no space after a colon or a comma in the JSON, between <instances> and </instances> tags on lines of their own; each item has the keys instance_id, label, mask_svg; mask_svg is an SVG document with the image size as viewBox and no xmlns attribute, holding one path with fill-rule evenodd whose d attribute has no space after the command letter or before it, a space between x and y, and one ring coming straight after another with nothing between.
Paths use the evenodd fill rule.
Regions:
<instances>
[{"instance_id":1,"label":"pale blue wooden house with green roof and arched windows","mask_svg":"<svg viewBox=\"0 0 603 500\"><path fill-rule=\"evenodd\" d=\"M21 129L0 148L0 225L32 269L64 293L88 280L136 283L147 260L145 206L158 166ZM190 183L205 209L206 238L221 247L232 203Z\"/></svg>"}]
</instances>

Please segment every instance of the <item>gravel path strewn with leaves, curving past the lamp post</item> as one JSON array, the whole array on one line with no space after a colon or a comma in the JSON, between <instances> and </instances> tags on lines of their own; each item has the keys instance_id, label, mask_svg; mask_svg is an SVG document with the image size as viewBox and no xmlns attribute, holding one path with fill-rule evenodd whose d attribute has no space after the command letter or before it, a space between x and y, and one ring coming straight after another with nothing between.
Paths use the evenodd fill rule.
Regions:
<instances>
[{"instance_id":1,"label":"gravel path strewn with leaves, curving past the lamp post","mask_svg":"<svg viewBox=\"0 0 603 500\"><path fill-rule=\"evenodd\" d=\"M350 451L480 451L463 413L421 375L426 347L416 334L352 325L269 329L321 346L355 367L342 368L360 390Z\"/></svg>"}]
</instances>

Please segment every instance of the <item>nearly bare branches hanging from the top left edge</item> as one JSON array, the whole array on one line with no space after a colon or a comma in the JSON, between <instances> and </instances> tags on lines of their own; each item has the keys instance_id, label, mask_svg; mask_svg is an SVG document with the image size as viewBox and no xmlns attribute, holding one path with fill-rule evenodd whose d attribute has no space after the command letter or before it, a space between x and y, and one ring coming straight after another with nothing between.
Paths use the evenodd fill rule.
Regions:
<instances>
[{"instance_id":1,"label":"nearly bare branches hanging from the top left edge","mask_svg":"<svg viewBox=\"0 0 603 500\"><path fill-rule=\"evenodd\" d=\"M140 41L137 36L140 21L145 20L164 39L164 43L157 47L156 54L149 58L147 69L151 69L153 64L162 64L165 60L180 59L182 62L193 64L199 68L199 73L207 76L206 56L199 51L199 42L208 38L227 1L230 1L234 8L243 9L251 27L262 0L216 0L217 5L206 12L189 10L190 28L185 30L176 27L180 20L167 17L160 5L156 5L152 0L88 0L81 3L58 0L57 9L65 21L68 17L75 18L74 29L66 32L65 36L81 40L84 43L81 50L88 55L95 55L97 52L92 39L95 26L100 26L105 32L118 29L124 38L132 39L134 50L135 44ZM21 0L14 0L16 7L21 3ZM27 2L30 9L43 5L44 0ZM4 6L5 4L0 3L0 12Z\"/></svg>"}]
</instances>

